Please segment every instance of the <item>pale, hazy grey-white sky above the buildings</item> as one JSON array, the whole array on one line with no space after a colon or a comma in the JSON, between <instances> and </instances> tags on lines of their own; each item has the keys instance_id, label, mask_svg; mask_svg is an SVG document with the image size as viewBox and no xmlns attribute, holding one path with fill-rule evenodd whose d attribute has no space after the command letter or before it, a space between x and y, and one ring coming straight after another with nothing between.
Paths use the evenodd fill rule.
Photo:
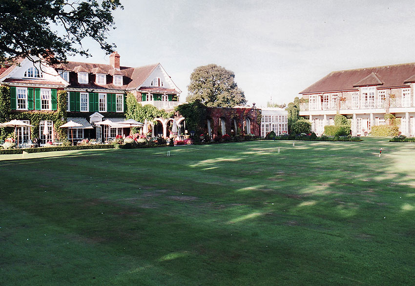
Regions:
<instances>
[{"instance_id":1,"label":"pale, hazy grey-white sky above the buildings","mask_svg":"<svg viewBox=\"0 0 415 286\"><path fill-rule=\"evenodd\" d=\"M187 96L194 68L217 64L257 107L291 102L331 71L415 62L413 1L121 0L114 12L122 66L161 63ZM92 57L109 63L87 40Z\"/></svg>"}]
</instances>

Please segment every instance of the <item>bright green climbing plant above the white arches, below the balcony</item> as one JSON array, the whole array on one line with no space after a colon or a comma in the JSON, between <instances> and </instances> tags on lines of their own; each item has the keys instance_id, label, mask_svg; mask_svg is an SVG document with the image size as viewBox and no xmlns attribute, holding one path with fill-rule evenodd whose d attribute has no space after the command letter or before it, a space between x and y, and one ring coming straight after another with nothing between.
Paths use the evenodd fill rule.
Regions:
<instances>
[{"instance_id":1,"label":"bright green climbing plant above the white arches, below the balcony","mask_svg":"<svg viewBox=\"0 0 415 286\"><path fill-rule=\"evenodd\" d=\"M168 115L171 113L167 114L165 110L159 110L155 106L150 104L142 106L132 93L127 94L126 104L126 118L131 118L142 123L144 123L145 119L153 121L154 118L157 117L170 118L168 117Z\"/></svg>"}]
</instances>

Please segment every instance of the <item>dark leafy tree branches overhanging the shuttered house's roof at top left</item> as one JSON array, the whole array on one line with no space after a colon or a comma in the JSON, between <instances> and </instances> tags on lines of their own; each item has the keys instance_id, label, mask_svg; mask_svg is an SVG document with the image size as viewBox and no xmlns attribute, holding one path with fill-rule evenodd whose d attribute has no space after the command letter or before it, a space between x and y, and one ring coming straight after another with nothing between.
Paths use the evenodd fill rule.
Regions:
<instances>
[{"instance_id":1,"label":"dark leafy tree branches overhanging the shuttered house's roof at top left","mask_svg":"<svg viewBox=\"0 0 415 286\"><path fill-rule=\"evenodd\" d=\"M37 56L57 64L67 55L90 56L85 38L109 54L115 45L106 42L107 32L117 8L123 8L120 0L1 0L0 63Z\"/></svg>"}]
</instances>

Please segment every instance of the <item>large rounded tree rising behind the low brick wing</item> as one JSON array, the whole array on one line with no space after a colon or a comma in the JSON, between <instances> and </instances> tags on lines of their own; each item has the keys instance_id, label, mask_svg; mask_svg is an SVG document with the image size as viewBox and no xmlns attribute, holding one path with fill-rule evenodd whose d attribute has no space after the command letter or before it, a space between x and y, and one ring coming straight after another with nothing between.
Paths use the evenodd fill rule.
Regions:
<instances>
[{"instance_id":1,"label":"large rounded tree rising behind the low brick wing","mask_svg":"<svg viewBox=\"0 0 415 286\"><path fill-rule=\"evenodd\" d=\"M247 103L244 92L235 83L235 74L222 66L196 67L190 75L186 100L208 107L233 107Z\"/></svg>"}]
</instances>

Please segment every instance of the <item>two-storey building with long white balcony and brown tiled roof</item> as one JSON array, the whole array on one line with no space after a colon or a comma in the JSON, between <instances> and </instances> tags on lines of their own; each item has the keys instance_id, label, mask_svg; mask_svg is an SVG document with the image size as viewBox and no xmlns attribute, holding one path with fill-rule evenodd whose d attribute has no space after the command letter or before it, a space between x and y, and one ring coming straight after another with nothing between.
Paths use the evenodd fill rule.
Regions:
<instances>
[{"instance_id":1,"label":"two-storey building with long white balcony and brown tiled roof","mask_svg":"<svg viewBox=\"0 0 415 286\"><path fill-rule=\"evenodd\" d=\"M323 133L336 113L352 119L352 134L385 125L385 113L400 118L400 132L415 135L415 63L333 71L300 92L300 115ZM308 101L308 102L307 102Z\"/></svg>"}]
</instances>

